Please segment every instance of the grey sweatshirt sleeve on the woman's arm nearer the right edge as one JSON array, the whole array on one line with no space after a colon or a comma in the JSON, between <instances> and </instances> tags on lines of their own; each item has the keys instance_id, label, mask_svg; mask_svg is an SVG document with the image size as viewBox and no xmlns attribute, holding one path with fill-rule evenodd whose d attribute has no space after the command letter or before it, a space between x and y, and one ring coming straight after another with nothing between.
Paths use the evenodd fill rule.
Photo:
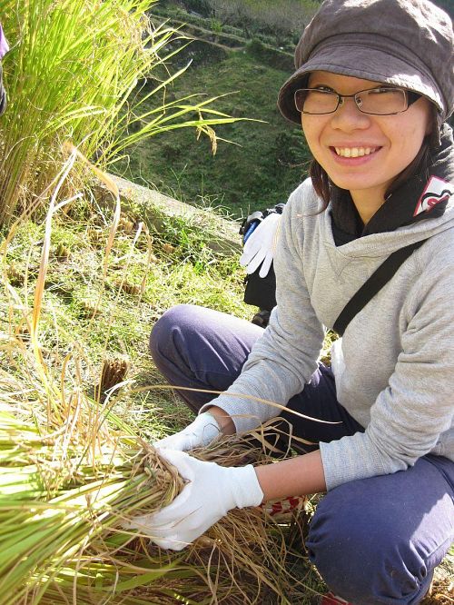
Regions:
<instances>
[{"instance_id":1,"label":"grey sweatshirt sleeve on the woman's arm nearer the right edge","mask_svg":"<svg viewBox=\"0 0 454 605\"><path fill-rule=\"evenodd\" d=\"M401 351L388 386L370 409L366 431L321 443L328 490L405 470L449 430L454 415L454 263L440 264L420 267L404 309Z\"/></svg>"}]
</instances>

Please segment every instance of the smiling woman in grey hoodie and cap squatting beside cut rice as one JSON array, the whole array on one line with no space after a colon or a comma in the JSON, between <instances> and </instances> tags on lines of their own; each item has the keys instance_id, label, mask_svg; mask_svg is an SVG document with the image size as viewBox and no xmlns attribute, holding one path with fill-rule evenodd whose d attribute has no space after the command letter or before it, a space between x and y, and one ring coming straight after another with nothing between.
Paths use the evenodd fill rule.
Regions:
<instances>
[{"instance_id":1,"label":"smiling woman in grey hoodie and cap squatting beside cut rice","mask_svg":"<svg viewBox=\"0 0 454 605\"><path fill-rule=\"evenodd\" d=\"M449 16L426 0L327 0L304 31L278 103L314 164L282 213L270 325L180 306L153 329L169 382L225 390L181 391L200 415L159 443L189 481L134 523L163 548L233 507L327 491L307 547L331 590L367 605L429 589L454 537L453 43ZM332 368L318 364L323 326L416 243L351 319ZM255 469L183 451L280 413L254 397L285 405L293 434L317 446Z\"/></svg>"}]
</instances>

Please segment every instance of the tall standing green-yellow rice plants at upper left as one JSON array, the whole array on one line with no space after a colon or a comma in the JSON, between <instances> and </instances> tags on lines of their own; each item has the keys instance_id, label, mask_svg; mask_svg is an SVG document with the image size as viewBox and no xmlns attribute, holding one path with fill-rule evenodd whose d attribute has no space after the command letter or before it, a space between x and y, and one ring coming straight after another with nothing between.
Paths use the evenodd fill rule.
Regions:
<instances>
[{"instance_id":1,"label":"tall standing green-yellow rice plants at upper left","mask_svg":"<svg viewBox=\"0 0 454 605\"><path fill-rule=\"evenodd\" d=\"M234 121L213 99L165 101L186 68L168 70L181 32L153 26L155 0L4 0L11 51L4 59L9 107L0 122L0 224L29 208L58 173L71 140L104 169L131 144L175 128L207 134ZM137 94L139 83L145 94ZM151 83L151 87L148 88ZM144 84L143 84L144 85ZM153 109L142 109L154 98ZM68 187L66 183L66 187Z\"/></svg>"}]
</instances>

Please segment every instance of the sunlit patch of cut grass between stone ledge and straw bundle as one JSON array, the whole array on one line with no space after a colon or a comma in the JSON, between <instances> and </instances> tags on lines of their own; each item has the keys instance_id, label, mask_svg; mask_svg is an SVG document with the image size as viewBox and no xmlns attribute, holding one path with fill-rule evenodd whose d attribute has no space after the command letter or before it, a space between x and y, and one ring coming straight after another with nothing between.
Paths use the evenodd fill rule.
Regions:
<instances>
[{"instance_id":1,"label":"sunlit patch of cut grass between stone ledge and straw bundle","mask_svg":"<svg viewBox=\"0 0 454 605\"><path fill-rule=\"evenodd\" d=\"M168 233L154 235L151 258L144 235L134 246L136 231L128 233L120 226L94 322L90 309L102 285L100 267L110 229L105 215L94 214L95 209L84 200L74 203L63 217L55 220L44 287L49 330L53 315L59 319L59 348L65 349L74 337L82 338L86 327L91 325L89 349L99 355L105 344L104 321L113 317L109 351L129 352L135 359L138 352L142 354L145 350L146 333L153 319L177 302L209 306L216 300L223 311L247 315L248 310L240 301L242 277L236 263L221 255L216 257L203 245L201 234L196 231L192 234L188 225L177 232L175 222L172 229L169 225ZM129 221L135 223L136 219L130 216ZM43 237L43 225L25 222L8 252L8 276L24 294L31 293L35 286L39 243ZM58 253L60 250L61 254L63 246L64 256ZM205 262L200 254L203 250ZM129 293L128 286L132 287Z\"/></svg>"}]
</instances>

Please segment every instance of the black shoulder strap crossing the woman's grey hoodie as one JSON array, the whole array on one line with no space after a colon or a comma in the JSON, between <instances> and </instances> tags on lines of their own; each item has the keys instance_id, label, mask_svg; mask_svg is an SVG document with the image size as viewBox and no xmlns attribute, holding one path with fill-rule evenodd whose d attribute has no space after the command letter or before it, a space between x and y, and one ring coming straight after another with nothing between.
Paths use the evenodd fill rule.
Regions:
<instances>
[{"instance_id":1,"label":"black shoulder strap crossing the woman's grey hoodie","mask_svg":"<svg viewBox=\"0 0 454 605\"><path fill-rule=\"evenodd\" d=\"M375 294L380 292L385 283L390 281L391 277L397 272L400 265L409 258L410 254L426 241L421 240L420 242L411 243L409 246L400 248L390 254L386 261L380 264L380 267L370 275L367 282L363 283L360 290L347 302L334 323L333 330L342 336L353 317L366 306Z\"/></svg>"}]
</instances>

